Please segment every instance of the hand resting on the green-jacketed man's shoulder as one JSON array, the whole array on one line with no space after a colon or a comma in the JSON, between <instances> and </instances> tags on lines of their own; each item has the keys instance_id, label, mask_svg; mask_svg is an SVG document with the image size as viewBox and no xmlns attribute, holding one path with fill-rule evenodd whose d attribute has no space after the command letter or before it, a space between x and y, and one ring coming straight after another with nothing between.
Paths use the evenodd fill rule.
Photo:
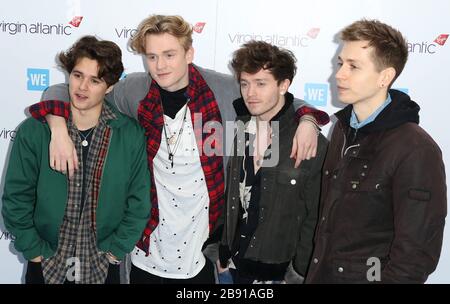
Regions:
<instances>
[{"instance_id":1,"label":"hand resting on the green-jacketed man's shoulder","mask_svg":"<svg viewBox=\"0 0 450 304\"><path fill-rule=\"evenodd\" d=\"M50 167L63 174L68 173L71 179L79 167L77 151L67 131L66 121L50 114L46 119L52 131L49 147Z\"/></svg>"}]
</instances>

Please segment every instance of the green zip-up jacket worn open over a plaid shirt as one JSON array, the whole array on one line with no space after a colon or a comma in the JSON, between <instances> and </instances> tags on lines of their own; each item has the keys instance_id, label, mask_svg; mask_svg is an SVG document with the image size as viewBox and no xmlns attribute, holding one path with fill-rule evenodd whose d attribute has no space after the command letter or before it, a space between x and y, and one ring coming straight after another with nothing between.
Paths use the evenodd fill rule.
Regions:
<instances>
[{"instance_id":1,"label":"green zip-up jacket worn open over a plaid shirt","mask_svg":"<svg viewBox=\"0 0 450 304\"><path fill-rule=\"evenodd\" d=\"M142 128L110 108L117 119L108 122L112 132L96 210L97 246L122 259L150 217L150 176ZM50 136L47 124L25 120L5 177L2 215L27 260L55 254L67 205L67 178L49 166Z\"/></svg>"}]
</instances>

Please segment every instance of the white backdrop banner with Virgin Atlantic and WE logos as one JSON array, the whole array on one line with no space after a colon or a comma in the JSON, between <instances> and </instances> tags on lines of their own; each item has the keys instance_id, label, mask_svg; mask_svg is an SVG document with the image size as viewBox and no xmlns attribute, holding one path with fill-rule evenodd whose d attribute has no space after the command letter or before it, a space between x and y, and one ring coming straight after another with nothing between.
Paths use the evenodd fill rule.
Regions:
<instances>
[{"instance_id":1,"label":"white backdrop banner with Virgin Atlantic and WE logos","mask_svg":"<svg viewBox=\"0 0 450 304\"><path fill-rule=\"evenodd\" d=\"M127 43L150 14L183 16L194 27L194 62L220 72L230 73L232 52L252 39L290 49L298 59L291 92L330 115L342 107L333 77L338 32L361 18L391 24L406 36L410 52L394 87L420 104L421 126L450 168L450 1L15 0L2 1L0 12L0 196L15 129L27 117L27 106L67 78L56 54L94 34L122 48L126 74L144 71L142 58ZM450 283L449 232L447 225L440 263L428 283ZM25 261L13 242L0 217L0 283L23 282Z\"/></svg>"}]
</instances>

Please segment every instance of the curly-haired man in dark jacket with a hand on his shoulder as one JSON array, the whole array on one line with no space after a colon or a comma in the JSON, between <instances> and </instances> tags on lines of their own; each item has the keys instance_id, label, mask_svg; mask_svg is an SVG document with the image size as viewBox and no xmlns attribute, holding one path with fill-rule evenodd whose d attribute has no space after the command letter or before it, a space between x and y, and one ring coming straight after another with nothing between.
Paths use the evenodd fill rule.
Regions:
<instances>
[{"instance_id":1,"label":"curly-haired man in dark jacket with a hand on his shoulder","mask_svg":"<svg viewBox=\"0 0 450 304\"><path fill-rule=\"evenodd\" d=\"M281 282L291 262L304 277L311 257L327 140L319 133L317 157L294 168L295 61L290 51L251 41L231 62L251 114L236 120L218 263L235 283Z\"/></svg>"}]
</instances>

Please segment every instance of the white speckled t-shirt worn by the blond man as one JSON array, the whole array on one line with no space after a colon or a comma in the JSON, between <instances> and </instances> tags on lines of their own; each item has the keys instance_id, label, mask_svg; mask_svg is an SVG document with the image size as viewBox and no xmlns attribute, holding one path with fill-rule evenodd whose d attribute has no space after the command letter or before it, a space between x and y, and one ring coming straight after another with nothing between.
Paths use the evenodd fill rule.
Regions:
<instances>
[{"instance_id":1,"label":"white speckled t-shirt worn by the blond man","mask_svg":"<svg viewBox=\"0 0 450 304\"><path fill-rule=\"evenodd\" d=\"M174 119L164 115L167 137L177 138L186 107ZM153 160L159 224L150 235L150 254L145 256L144 251L135 248L131 260L136 267L159 277L189 279L205 265L201 249L209 234L208 188L189 108L178 148L174 152L176 143L170 146L174 154L173 168L166 142L163 130Z\"/></svg>"}]
</instances>

